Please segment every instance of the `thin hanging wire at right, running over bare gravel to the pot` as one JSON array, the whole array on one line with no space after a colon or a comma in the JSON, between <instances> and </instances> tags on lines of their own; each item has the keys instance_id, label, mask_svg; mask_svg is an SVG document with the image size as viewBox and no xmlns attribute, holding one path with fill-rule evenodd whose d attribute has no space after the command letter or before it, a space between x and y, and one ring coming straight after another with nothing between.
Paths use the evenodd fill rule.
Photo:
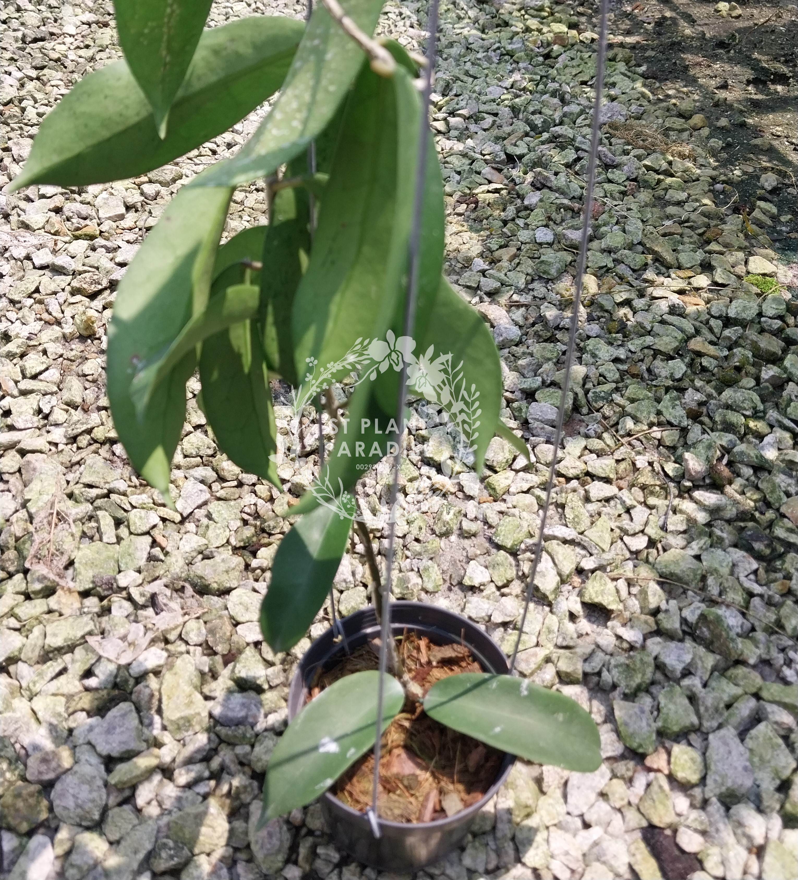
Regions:
<instances>
[{"instance_id":1,"label":"thin hanging wire at right, running over bare gravel to the pot","mask_svg":"<svg viewBox=\"0 0 798 880\"><path fill-rule=\"evenodd\" d=\"M516 657L518 656L518 647L521 644L521 636L523 627L526 623L526 615L529 611L532 598L532 589L535 585L535 576L538 574L538 565L540 564L540 556L543 552L543 535L545 532L545 521L548 517L549 504L552 501L552 488L554 485L554 470L557 466L557 452L560 450L560 437L562 436L562 425L565 422L565 410L567 406L568 390L571 384L571 367L574 364L574 352L576 348L576 331L579 328L579 305L582 301L582 276L584 275L585 264L588 259L588 239L590 237L590 224L593 219L593 190L596 187L596 166L598 152L598 138L601 134L601 99L604 92L604 60L607 52L607 13L610 9L610 0L602 0L601 3L601 27L598 35L598 54L596 56L596 97L593 103L593 126L590 132L590 157L588 165L588 184L585 188L585 208L584 223L582 224L582 242L579 246L579 260L576 264L576 292L574 296L574 304L571 314L571 332L568 336L568 349L565 362L565 373L562 379L562 395L560 397L560 408L557 411L557 425L554 429L554 451L552 463L549 466L549 478L545 486L545 504L543 505L543 514L540 517L540 528L538 531L538 540L535 543L535 556L532 560L532 569L529 581L526 585L526 598L523 604L523 613L521 622L518 625L518 635L516 637L516 646L513 648L513 656L510 657L509 674L512 675L516 668Z\"/></svg>"}]
</instances>

